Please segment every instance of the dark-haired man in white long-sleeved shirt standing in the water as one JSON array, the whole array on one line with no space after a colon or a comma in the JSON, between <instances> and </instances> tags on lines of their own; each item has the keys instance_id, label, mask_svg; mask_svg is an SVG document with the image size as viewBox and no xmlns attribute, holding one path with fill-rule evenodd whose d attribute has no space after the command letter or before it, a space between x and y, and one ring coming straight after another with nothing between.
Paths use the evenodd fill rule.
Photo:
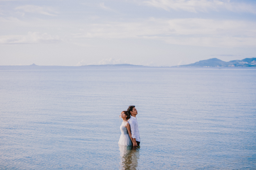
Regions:
<instances>
[{"instance_id":1,"label":"dark-haired man in white long-sleeved shirt standing in the water","mask_svg":"<svg viewBox=\"0 0 256 170\"><path fill-rule=\"evenodd\" d=\"M129 106L127 109L127 112L129 115L131 115L131 118L129 119L128 122L131 127L133 147L137 147L140 145L139 126L138 126L138 122L137 122L137 118L136 118L136 115L138 114L138 112L134 105Z\"/></svg>"}]
</instances>

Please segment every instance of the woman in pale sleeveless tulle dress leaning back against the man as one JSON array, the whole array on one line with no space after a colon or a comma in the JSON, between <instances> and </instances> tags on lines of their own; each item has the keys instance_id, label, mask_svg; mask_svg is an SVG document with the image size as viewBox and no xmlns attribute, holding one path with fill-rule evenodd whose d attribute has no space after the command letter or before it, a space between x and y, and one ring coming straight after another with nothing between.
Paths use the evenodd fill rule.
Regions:
<instances>
[{"instance_id":1,"label":"woman in pale sleeveless tulle dress leaning back against the man","mask_svg":"<svg viewBox=\"0 0 256 170\"><path fill-rule=\"evenodd\" d=\"M127 121L127 119L130 119L130 116L128 115L128 112L127 111L123 111L119 117L121 117L123 119L123 122L122 122L122 124L120 126L122 134L120 136L118 144L124 145L124 146L133 145L132 144L131 129L130 129L130 125L129 125L128 121Z\"/></svg>"}]
</instances>

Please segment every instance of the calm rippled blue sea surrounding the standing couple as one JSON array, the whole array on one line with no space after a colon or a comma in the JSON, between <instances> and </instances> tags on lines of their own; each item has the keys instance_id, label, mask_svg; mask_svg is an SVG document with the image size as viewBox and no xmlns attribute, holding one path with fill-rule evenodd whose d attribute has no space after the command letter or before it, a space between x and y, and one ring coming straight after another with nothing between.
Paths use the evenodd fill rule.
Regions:
<instances>
[{"instance_id":1,"label":"calm rippled blue sea surrounding the standing couple","mask_svg":"<svg viewBox=\"0 0 256 170\"><path fill-rule=\"evenodd\" d=\"M256 169L252 68L1 66L0 114L0 169Z\"/></svg>"}]
</instances>

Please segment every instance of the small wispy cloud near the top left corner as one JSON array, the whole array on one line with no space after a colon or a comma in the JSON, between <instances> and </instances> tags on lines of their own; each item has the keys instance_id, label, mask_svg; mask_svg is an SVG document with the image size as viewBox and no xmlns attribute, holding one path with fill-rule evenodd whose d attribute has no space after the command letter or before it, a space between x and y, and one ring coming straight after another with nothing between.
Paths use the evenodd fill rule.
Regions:
<instances>
[{"instance_id":1,"label":"small wispy cloud near the top left corner","mask_svg":"<svg viewBox=\"0 0 256 170\"><path fill-rule=\"evenodd\" d=\"M36 5L18 6L15 8L15 10L22 10L25 12L38 13L38 14L49 15L49 16L56 16L56 14L58 13L54 11L52 7L36 6Z\"/></svg>"}]
</instances>

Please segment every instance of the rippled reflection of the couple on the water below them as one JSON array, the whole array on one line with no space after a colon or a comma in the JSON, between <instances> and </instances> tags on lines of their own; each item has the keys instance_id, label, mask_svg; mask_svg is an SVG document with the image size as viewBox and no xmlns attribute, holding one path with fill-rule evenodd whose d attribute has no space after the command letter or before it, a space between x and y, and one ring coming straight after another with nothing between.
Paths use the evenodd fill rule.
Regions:
<instances>
[{"instance_id":1,"label":"rippled reflection of the couple on the water below them","mask_svg":"<svg viewBox=\"0 0 256 170\"><path fill-rule=\"evenodd\" d=\"M140 157L140 146L132 148L132 146L119 145L120 163L122 170L136 170L138 166L138 159Z\"/></svg>"}]
</instances>

